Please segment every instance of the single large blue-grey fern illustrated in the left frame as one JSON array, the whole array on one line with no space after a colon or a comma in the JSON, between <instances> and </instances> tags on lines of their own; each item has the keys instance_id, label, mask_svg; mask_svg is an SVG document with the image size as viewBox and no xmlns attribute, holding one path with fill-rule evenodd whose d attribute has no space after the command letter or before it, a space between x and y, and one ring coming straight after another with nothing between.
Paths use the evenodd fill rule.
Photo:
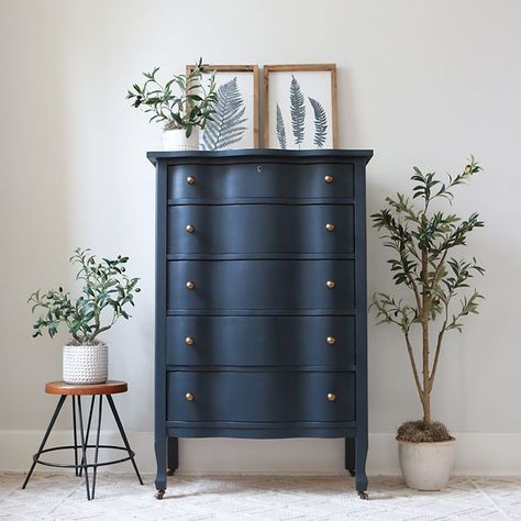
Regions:
<instances>
[{"instance_id":1,"label":"single large blue-grey fern illustrated in the left frame","mask_svg":"<svg viewBox=\"0 0 521 521\"><path fill-rule=\"evenodd\" d=\"M202 134L202 149L219 151L242 140L247 121L244 100L237 88L237 77L222 84L217 91L215 113Z\"/></svg>"}]
</instances>

